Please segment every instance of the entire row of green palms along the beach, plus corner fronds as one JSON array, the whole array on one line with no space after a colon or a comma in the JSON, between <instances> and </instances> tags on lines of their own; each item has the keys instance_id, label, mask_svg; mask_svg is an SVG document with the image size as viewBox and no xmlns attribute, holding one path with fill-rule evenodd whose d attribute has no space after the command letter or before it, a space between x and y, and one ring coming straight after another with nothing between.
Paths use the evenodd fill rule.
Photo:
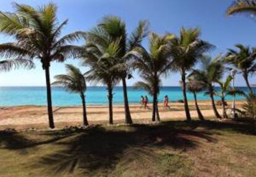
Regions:
<instances>
[{"instance_id":1,"label":"entire row of green palms along the beach, plus corner fronds","mask_svg":"<svg viewBox=\"0 0 256 177\"><path fill-rule=\"evenodd\" d=\"M254 1L236 1L228 10L228 14L239 12L256 12ZM53 85L64 86L68 91L80 94L83 105L83 124L88 125L85 107L86 81L102 83L108 89L109 123L113 123L113 88L122 83L124 93L125 123L131 124L126 80L132 78L137 71L142 81L135 83L153 96L152 121L160 121L158 112L158 94L161 78L170 73L181 74L181 86L184 97L184 109L187 120L191 120L187 102L187 89L194 94L198 118L203 115L197 104L197 93L206 91L211 98L216 117L221 118L215 105L214 96L220 94L223 105L223 118L228 117L224 105L228 94L239 94L241 91L231 89L233 79L228 76L221 81L225 65L233 66L242 73L250 93L253 90L248 77L255 71L256 51L250 47L236 45L238 50L229 49L226 55L215 59L207 56L214 46L200 39L198 28L181 28L180 34L158 35L150 33L148 22L140 21L130 35L127 34L126 23L119 17L107 16L90 31L75 31L61 36L62 28L67 20L58 22L57 7L53 3L34 8L25 4L14 3L14 13L0 12L0 32L12 36L11 43L0 44L0 55L6 58L0 62L1 70L15 67L33 68L33 60L39 59L46 76L49 127L54 128L51 101L51 81L49 68L52 62L64 62L69 58L77 58L82 65L90 69L82 73L73 65L66 65L67 74L55 76ZM247 11L245 11L247 10ZM142 41L149 36L148 50ZM85 39L85 45L73 43ZM195 69L200 63L201 67ZM221 92L216 92L215 84L220 84Z\"/></svg>"}]
</instances>

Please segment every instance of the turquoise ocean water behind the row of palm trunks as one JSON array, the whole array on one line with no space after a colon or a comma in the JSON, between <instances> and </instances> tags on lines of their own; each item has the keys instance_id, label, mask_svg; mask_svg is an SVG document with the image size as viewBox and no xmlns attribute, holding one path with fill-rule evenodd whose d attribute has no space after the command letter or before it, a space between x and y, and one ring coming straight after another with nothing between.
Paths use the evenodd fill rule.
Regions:
<instances>
[{"instance_id":1,"label":"turquoise ocean water behind the row of palm trunks","mask_svg":"<svg viewBox=\"0 0 256 177\"><path fill-rule=\"evenodd\" d=\"M218 88L217 88L218 89ZM239 89L247 92L247 88L239 87ZM148 95L147 91L143 89L135 89L128 87L128 97L130 103L139 103L140 96ZM86 101L89 105L107 105L108 92L103 86L89 86L86 91ZM170 101L177 101L182 99L182 90L179 86L164 86L161 88L158 100L163 101L164 95L168 95ZM192 93L187 93L189 100L193 100ZM198 100L209 100L208 96L204 93L198 94ZM152 98L148 96L151 101ZM69 93L60 87L52 88L52 99L54 106L67 106L67 105L81 105L79 94ZM215 97L215 99L220 99ZM227 100L232 97L228 96ZM244 99L244 97L237 96L236 99ZM114 104L123 103L122 87L117 86L114 88ZM46 88L45 87L0 87L0 106L14 106L14 105L46 105Z\"/></svg>"}]
</instances>

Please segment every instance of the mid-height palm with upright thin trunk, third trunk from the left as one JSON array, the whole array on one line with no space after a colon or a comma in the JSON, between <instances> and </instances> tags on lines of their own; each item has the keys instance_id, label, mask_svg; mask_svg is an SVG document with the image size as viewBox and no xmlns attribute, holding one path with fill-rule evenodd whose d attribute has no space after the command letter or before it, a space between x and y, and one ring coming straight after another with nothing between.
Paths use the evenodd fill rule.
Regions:
<instances>
[{"instance_id":1,"label":"mid-height palm with upright thin trunk, third trunk from the left","mask_svg":"<svg viewBox=\"0 0 256 177\"><path fill-rule=\"evenodd\" d=\"M88 35L93 35L99 28L95 28ZM112 41L108 35L103 37L101 45L87 41L83 55L83 64L90 67L85 73L89 81L103 83L107 86L109 101L109 124L113 124L113 88L119 83L119 72L114 68L119 52L119 40Z\"/></svg>"}]
</instances>

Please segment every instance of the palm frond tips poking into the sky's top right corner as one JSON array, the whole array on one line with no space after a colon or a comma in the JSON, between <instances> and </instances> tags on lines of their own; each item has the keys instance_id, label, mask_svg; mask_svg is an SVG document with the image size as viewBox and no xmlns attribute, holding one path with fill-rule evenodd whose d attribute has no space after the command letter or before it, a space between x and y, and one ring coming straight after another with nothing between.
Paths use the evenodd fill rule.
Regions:
<instances>
[{"instance_id":1,"label":"palm frond tips poking into the sky's top right corner","mask_svg":"<svg viewBox=\"0 0 256 177\"><path fill-rule=\"evenodd\" d=\"M228 15L233 14L256 14L256 1L255 0L236 0L228 8Z\"/></svg>"}]
</instances>

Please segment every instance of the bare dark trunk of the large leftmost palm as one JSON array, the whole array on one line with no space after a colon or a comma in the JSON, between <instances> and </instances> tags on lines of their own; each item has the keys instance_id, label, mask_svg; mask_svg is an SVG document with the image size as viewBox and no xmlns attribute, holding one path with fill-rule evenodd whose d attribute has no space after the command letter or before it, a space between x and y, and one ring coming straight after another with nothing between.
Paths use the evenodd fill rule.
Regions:
<instances>
[{"instance_id":1,"label":"bare dark trunk of the large leftmost palm","mask_svg":"<svg viewBox=\"0 0 256 177\"><path fill-rule=\"evenodd\" d=\"M51 81L50 81L50 77L49 77L49 66L45 67L45 78L46 78L46 89L47 89L49 127L54 128L53 105L51 102Z\"/></svg>"}]
</instances>

